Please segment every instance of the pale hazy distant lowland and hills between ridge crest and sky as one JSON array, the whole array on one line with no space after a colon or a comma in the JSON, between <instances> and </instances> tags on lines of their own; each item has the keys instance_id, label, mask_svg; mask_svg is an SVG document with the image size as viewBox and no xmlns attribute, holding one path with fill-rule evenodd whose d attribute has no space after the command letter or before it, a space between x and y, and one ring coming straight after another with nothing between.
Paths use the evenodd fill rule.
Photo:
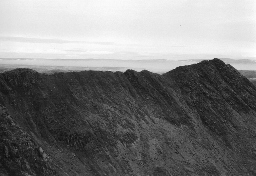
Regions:
<instances>
[{"instance_id":1,"label":"pale hazy distant lowland and hills between ridge crest and sky","mask_svg":"<svg viewBox=\"0 0 256 176\"><path fill-rule=\"evenodd\" d=\"M256 70L256 60L249 59L222 59L225 63L231 64L237 70ZM38 72L54 73L68 71L120 71L128 69L140 72L164 74L178 66L185 66L201 62L202 59L190 60L121 60L121 59L29 59L29 58L0 58L0 72L10 71L15 68L30 68Z\"/></svg>"}]
</instances>

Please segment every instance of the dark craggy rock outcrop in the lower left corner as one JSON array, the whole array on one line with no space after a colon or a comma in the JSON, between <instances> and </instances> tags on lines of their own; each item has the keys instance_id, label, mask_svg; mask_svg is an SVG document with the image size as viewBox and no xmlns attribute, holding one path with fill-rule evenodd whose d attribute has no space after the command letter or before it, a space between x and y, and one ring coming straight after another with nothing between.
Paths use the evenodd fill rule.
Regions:
<instances>
[{"instance_id":1,"label":"dark craggy rock outcrop in the lower left corner","mask_svg":"<svg viewBox=\"0 0 256 176\"><path fill-rule=\"evenodd\" d=\"M8 110L0 105L0 174L56 174L45 158L47 155L31 136L18 126ZM40 148L38 152L37 148Z\"/></svg>"}]
</instances>

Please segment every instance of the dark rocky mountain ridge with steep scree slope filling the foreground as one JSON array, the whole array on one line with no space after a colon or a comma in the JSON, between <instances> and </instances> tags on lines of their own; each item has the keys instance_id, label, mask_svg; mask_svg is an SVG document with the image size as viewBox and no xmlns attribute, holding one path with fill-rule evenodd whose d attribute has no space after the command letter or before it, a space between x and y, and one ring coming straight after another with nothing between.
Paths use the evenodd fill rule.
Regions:
<instances>
[{"instance_id":1,"label":"dark rocky mountain ridge with steep scree slope filling the foreground","mask_svg":"<svg viewBox=\"0 0 256 176\"><path fill-rule=\"evenodd\" d=\"M162 75L15 69L0 104L2 174L256 175L256 87L216 58Z\"/></svg>"}]
</instances>

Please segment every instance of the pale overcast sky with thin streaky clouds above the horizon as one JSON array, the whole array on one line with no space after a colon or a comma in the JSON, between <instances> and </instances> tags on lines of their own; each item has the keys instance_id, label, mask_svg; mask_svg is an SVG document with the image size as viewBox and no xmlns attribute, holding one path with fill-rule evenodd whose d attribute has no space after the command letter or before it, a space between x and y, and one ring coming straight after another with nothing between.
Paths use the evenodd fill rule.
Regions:
<instances>
[{"instance_id":1,"label":"pale overcast sky with thin streaky clouds above the horizon","mask_svg":"<svg viewBox=\"0 0 256 176\"><path fill-rule=\"evenodd\" d=\"M0 58L256 59L256 1L0 0Z\"/></svg>"}]
</instances>

